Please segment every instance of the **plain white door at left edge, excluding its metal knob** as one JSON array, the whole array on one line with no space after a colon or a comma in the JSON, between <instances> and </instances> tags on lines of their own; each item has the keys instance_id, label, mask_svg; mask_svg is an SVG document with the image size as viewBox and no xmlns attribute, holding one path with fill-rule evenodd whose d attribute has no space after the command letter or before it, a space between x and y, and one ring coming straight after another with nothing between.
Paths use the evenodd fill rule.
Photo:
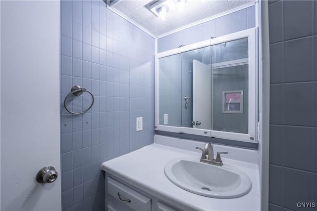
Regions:
<instances>
[{"instance_id":1,"label":"plain white door at left edge, excluding its metal knob","mask_svg":"<svg viewBox=\"0 0 317 211\"><path fill-rule=\"evenodd\" d=\"M61 210L59 1L1 3L1 210ZM36 182L54 166L59 177Z\"/></svg>"}]
</instances>

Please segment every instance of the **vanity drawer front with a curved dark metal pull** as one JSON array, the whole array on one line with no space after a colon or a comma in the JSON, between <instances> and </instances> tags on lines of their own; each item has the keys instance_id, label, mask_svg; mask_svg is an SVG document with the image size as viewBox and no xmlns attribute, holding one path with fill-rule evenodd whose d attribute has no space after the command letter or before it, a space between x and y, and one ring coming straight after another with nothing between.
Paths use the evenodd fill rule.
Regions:
<instances>
[{"instance_id":1,"label":"vanity drawer front with a curved dark metal pull","mask_svg":"<svg viewBox=\"0 0 317 211\"><path fill-rule=\"evenodd\" d=\"M133 190L121 182L112 179L111 177L107 178L107 187L109 195L113 196L133 210L151 211L151 199L149 197L144 196L143 194Z\"/></svg>"}]
</instances>

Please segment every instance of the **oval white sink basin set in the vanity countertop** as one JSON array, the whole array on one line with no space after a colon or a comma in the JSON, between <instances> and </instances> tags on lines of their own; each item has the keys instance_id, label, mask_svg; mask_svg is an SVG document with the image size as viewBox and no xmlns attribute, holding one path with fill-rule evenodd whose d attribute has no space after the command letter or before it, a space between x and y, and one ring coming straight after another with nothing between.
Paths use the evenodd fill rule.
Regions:
<instances>
[{"instance_id":1,"label":"oval white sink basin set in the vanity countertop","mask_svg":"<svg viewBox=\"0 0 317 211\"><path fill-rule=\"evenodd\" d=\"M252 188L249 176L242 170L226 164L219 167L202 163L196 158L172 160L164 173L178 187L212 198L237 198Z\"/></svg>"}]
</instances>

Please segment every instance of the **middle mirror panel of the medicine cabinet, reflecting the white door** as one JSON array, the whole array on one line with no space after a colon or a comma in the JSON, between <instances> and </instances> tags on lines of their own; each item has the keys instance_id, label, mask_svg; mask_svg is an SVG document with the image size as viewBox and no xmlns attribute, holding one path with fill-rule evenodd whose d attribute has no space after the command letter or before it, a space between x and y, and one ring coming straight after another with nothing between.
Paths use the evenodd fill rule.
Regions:
<instances>
[{"instance_id":1,"label":"middle mirror panel of the medicine cabinet, reflecting the white door","mask_svg":"<svg viewBox=\"0 0 317 211\"><path fill-rule=\"evenodd\" d=\"M211 129L211 46L181 53L182 127Z\"/></svg>"}]
</instances>

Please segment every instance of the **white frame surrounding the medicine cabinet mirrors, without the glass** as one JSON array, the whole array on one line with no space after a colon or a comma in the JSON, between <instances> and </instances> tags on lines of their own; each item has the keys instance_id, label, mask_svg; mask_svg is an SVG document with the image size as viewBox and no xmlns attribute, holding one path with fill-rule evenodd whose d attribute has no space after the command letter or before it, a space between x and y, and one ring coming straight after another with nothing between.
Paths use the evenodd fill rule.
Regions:
<instances>
[{"instance_id":1,"label":"white frame surrounding the medicine cabinet mirrors, without the glass","mask_svg":"<svg viewBox=\"0 0 317 211\"><path fill-rule=\"evenodd\" d=\"M227 132L211 129L200 129L192 127L175 127L159 125L159 59L186 51L248 38L248 131L247 133ZM244 59L245 60L245 59ZM172 71L172 70L171 70ZM181 46L155 55L155 129L177 133L188 133L195 135L211 136L216 138L258 143L258 119L259 119L259 68L258 68L258 28L252 28L214 39ZM194 96L192 96L194 97ZM213 100L211 98L211 100ZM183 103L182 99L182 103ZM213 103L213 102L212 102ZM222 102L221 102L222 103ZM181 109L181 108L180 108ZM212 110L212 108L211 108Z\"/></svg>"}]
</instances>

